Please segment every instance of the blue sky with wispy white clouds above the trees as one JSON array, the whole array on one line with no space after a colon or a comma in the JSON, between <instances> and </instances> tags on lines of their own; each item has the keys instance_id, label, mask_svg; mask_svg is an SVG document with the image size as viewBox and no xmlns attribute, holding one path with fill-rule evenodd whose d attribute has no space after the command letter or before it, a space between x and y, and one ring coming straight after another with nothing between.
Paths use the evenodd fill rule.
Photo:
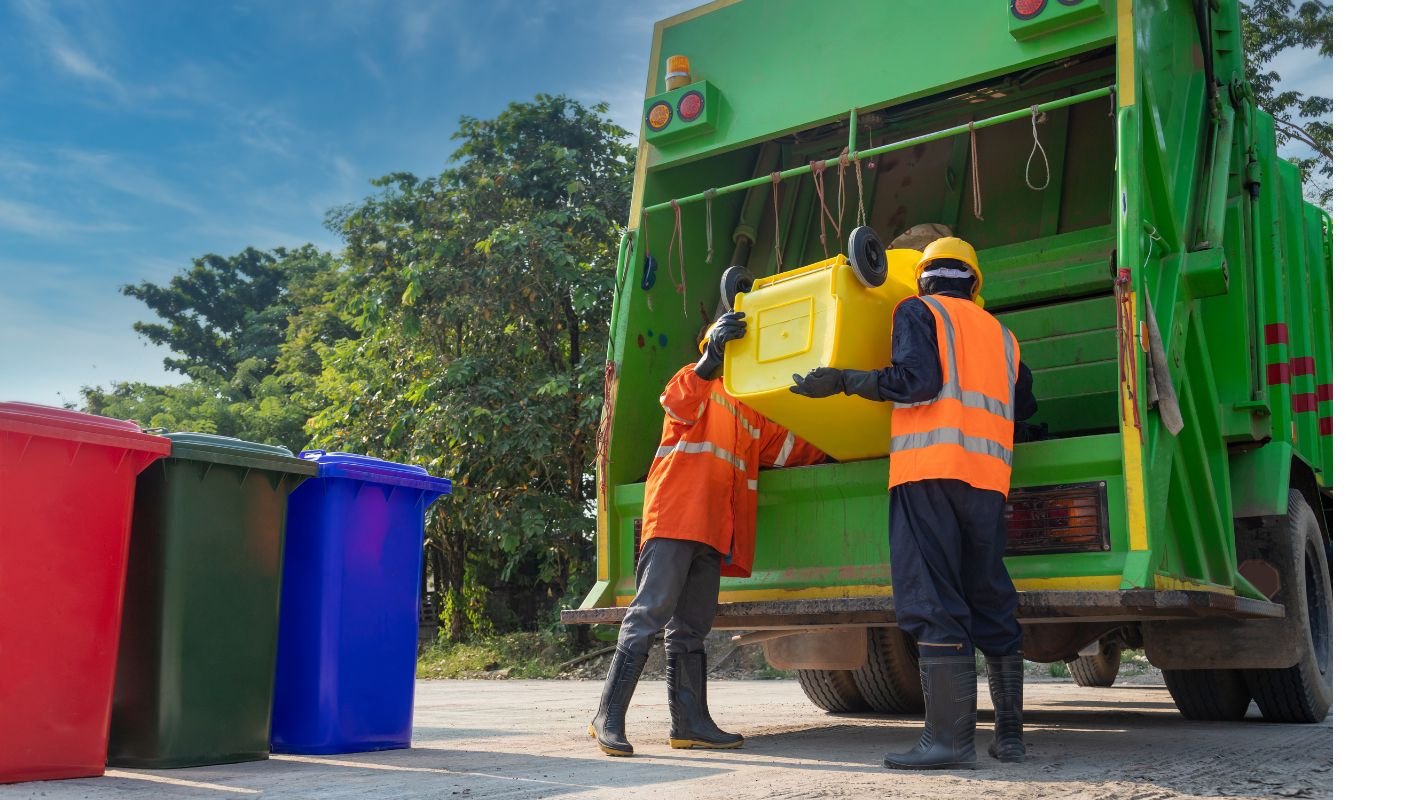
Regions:
<instances>
[{"instance_id":1,"label":"blue sky with wispy white clouds above the trees","mask_svg":"<svg viewBox=\"0 0 1422 800\"><path fill-rule=\"evenodd\" d=\"M178 382L125 283L334 249L326 212L428 175L461 115L536 92L634 129L653 21L698 0L0 0L0 399ZM1284 54L1303 91L1332 64Z\"/></svg>"}]
</instances>

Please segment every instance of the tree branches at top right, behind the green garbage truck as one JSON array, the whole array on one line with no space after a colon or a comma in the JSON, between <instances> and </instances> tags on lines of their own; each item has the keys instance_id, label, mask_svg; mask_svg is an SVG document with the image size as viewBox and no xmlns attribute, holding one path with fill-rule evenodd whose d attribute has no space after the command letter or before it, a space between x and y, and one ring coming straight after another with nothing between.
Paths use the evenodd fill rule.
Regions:
<instances>
[{"instance_id":1,"label":"tree branches at top right, behind the green garbage truck","mask_svg":"<svg viewBox=\"0 0 1422 800\"><path fill-rule=\"evenodd\" d=\"M1270 63L1284 50L1303 47L1332 58L1332 6L1318 0L1250 0L1241 6L1244 54L1258 107L1278 122L1278 144L1298 141L1314 153L1297 159L1305 183L1322 203L1332 203L1332 98L1280 91L1281 77ZM1314 178L1322 176L1324 185Z\"/></svg>"}]
</instances>

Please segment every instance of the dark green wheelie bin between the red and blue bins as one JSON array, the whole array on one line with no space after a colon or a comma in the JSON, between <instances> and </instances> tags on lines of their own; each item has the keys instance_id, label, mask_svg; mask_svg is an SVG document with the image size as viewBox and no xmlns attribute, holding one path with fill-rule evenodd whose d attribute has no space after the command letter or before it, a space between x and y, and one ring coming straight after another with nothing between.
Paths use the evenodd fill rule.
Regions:
<instances>
[{"instance_id":1,"label":"dark green wheelie bin between the red and blue bins","mask_svg":"<svg viewBox=\"0 0 1422 800\"><path fill-rule=\"evenodd\" d=\"M108 763L267 757L287 496L317 465L286 448L168 433L138 477Z\"/></svg>"}]
</instances>

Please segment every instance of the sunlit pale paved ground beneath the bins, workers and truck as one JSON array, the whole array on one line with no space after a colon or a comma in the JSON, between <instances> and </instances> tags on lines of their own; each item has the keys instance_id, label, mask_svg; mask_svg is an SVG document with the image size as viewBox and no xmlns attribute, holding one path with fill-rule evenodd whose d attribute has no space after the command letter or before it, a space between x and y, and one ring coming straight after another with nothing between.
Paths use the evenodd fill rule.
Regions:
<instances>
[{"instance_id":1,"label":"sunlit pale paved ground beneath the bins, workers and truck","mask_svg":"<svg viewBox=\"0 0 1422 800\"><path fill-rule=\"evenodd\" d=\"M665 691L643 682L629 719L634 759L602 756L587 739L599 685L573 681L421 682L415 747L358 756L292 757L168 772L111 770L101 779L0 786L0 799L448 799L448 797L1330 797L1332 719L1322 725L1194 723L1163 686L1078 689L1027 685L1025 764L987 756L980 769L900 773L879 764L920 723L829 716L793 681L712 685L724 728L751 739L739 752L673 750ZM980 703L988 703L985 683Z\"/></svg>"}]
</instances>

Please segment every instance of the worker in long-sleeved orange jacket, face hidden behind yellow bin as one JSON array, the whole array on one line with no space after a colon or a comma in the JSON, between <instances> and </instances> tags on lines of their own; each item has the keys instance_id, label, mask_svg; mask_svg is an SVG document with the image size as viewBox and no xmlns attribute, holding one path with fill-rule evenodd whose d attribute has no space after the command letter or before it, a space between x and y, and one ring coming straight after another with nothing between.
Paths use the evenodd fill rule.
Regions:
<instances>
[{"instance_id":1,"label":"worker in long-sleeved orange jacket, face hidden behind yellow bin","mask_svg":"<svg viewBox=\"0 0 1422 800\"><path fill-rule=\"evenodd\" d=\"M624 720L653 638L665 629L673 747L739 747L707 709L705 635L721 575L747 577L755 557L755 500L762 466L826 460L809 442L725 394L725 342L745 335L745 314L722 314L701 360L661 394L661 443L651 462L641 519L637 594L623 617L597 716L589 729L609 756L630 756Z\"/></svg>"}]
</instances>

